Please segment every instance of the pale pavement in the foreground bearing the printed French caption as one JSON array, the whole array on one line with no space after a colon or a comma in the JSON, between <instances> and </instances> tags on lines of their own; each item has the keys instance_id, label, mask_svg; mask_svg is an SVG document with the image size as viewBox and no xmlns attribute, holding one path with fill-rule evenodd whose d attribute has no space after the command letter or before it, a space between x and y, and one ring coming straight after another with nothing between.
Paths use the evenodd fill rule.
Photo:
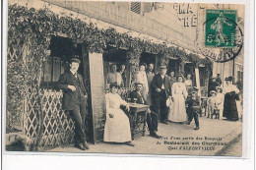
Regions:
<instances>
[{"instance_id":1,"label":"pale pavement in the foreground bearing the printed French caption","mask_svg":"<svg viewBox=\"0 0 256 170\"><path fill-rule=\"evenodd\" d=\"M135 136L135 146L125 144L105 143L90 144L89 150L79 150L73 145L58 147L48 151L85 152L85 153L148 153L170 155L221 155L220 152L229 142L242 132L242 122L200 118L200 130L193 130L191 125L169 123L160 124L158 134L161 139L154 139L146 133L145 137ZM238 144L239 145L239 144ZM232 147L236 156L241 156L241 147Z\"/></svg>"}]
</instances>

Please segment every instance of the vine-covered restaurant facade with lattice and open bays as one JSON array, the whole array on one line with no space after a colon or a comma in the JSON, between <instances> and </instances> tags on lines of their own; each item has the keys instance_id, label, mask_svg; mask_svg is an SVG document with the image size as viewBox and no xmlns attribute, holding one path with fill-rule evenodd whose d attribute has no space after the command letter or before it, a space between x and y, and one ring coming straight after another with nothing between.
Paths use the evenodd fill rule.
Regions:
<instances>
[{"instance_id":1,"label":"vine-covered restaurant facade with lattice and open bays","mask_svg":"<svg viewBox=\"0 0 256 170\"><path fill-rule=\"evenodd\" d=\"M174 20L181 8L190 9L187 15L193 14L189 22ZM74 55L82 61L79 73L89 92L89 142L102 141L104 78L111 64L126 66L127 80L121 94L131 89L140 63L153 63L156 73L160 65L166 65L168 73L174 71L176 76L192 73L194 85L202 89L202 94L207 93L212 62L197 50L198 19L193 8L198 7L146 2L10 0L7 136L24 133L32 150L73 143L74 123L61 109L62 92L55 90L54 85L69 70L68 62ZM170 9L173 13L169 14ZM189 33L195 35L188 36Z\"/></svg>"}]
</instances>

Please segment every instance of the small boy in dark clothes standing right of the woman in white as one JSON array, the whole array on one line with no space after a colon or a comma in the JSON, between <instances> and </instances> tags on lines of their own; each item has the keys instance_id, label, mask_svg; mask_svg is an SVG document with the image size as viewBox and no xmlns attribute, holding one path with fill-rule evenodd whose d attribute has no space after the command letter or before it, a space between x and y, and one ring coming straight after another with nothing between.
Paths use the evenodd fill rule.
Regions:
<instances>
[{"instance_id":1,"label":"small boy in dark clothes standing right of the woman in white","mask_svg":"<svg viewBox=\"0 0 256 170\"><path fill-rule=\"evenodd\" d=\"M192 89L191 96L187 99L187 106L187 124L190 125L190 122L194 118L196 124L196 128L194 128L194 130L199 130L198 114L200 114L201 111L201 98L198 96L198 88L195 86Z\"/></svg>"}]
</instances>

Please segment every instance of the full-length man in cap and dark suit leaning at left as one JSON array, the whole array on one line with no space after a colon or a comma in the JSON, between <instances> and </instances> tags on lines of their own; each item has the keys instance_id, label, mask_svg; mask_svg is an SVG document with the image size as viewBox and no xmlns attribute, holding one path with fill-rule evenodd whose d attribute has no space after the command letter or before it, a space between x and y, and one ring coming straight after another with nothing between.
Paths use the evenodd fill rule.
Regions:
<instances>
[{"instance_id":1,"label":"full-length man in cap and dark suit leaning at left","mask_svg":"<svg viewBox=\"0 0 256 170\"><path fill-rule=\"evenodd\" d=\"M78 58L71 59L70 71L60 76L56 88L63 90L62 109L69 110L75 122L75 146L85 150L89 149L84 129L87 91L82 76L77 73L79 64Z\"/></svg>"}]
</instances>

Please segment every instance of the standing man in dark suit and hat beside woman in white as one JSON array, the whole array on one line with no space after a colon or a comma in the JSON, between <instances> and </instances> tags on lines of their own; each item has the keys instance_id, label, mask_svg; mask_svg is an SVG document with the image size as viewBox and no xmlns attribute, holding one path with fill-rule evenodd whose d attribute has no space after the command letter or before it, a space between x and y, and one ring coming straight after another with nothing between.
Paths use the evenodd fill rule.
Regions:
<instances>
[{"instance_id":1,"label":"standing man in dark suit and hat beside woman in white","mask_svg":"<svg viewBox=\"0 0 256 170\"><path fill-rule=\"evenodd\" d=\"M160 66L160 74L156 75L151 84L154 92L154 103L160 114L160 122L167 124L166 99L171 95L169 77L166 76L166 66Z\"/></svg>"}]
</instances>

